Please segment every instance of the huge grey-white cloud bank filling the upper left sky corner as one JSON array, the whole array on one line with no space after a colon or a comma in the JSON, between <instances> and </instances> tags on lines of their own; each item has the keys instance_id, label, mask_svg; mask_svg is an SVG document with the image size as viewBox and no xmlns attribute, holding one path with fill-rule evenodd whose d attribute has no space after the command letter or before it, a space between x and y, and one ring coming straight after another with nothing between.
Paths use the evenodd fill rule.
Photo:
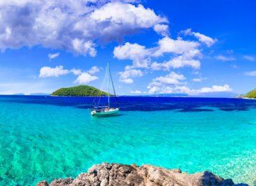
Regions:
<instances>
[{"instance_id":1,"label":"huge grey-white cloud bank filling the upper left sky corner","mask_svg":"<svg viewBox=\"0 0 256 186\"><path fill-rule=\"evenodd\" d=\"M124 0L0 1L0 17L1 51L41 45L89 56L97 54L97 42L122 40L168 22L150 8Z\"/></svg>"}]
</instances>

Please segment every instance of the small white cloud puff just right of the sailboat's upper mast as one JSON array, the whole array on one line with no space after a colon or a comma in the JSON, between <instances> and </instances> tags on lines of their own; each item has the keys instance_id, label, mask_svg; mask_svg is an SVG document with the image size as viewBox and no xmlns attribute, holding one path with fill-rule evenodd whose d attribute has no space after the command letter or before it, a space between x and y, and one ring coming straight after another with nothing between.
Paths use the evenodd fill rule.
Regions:
<instances>
[{"instance_id":1,"label":"small white cloud puff just right of the sailboat's upper mast","mask_svg":"<svg viewBox=\"0 0 256 186\"><path fill-rule=\"evenodd\" d=\"M125 71L120 71L118 74L120 75L119 81L127 84L134 83L132 78L143 76L143 72L139 69L125 69Z\"/></svg>"}]
</instances>

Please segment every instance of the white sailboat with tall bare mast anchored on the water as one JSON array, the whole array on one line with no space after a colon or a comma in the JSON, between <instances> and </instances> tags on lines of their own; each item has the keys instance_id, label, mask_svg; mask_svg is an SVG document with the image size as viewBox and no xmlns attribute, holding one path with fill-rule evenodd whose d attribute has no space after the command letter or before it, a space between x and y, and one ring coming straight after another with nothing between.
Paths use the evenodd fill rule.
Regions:
<instances>
[{"instance_id":1,"label":"white sailboat with tall bare mast anchored on the water","mask_svg":"<svg viewBox=\"0 0 256 186\"><path fill-rule=\"evenodd\" d=\"M101 97L101 95L99 95L99 101L97 102L97 106L92 109L92 111L90 112L90 115L107 116L107 115L115 115L119 112L119 108L111 107L111 103L110 103L110 96L111 96L110 91L109 91L110 90L110 88L109 88L110 80L111 80L111 84L113 87L114 96L115 96L115 87L113 85L111 71L109 69L109 62L106 65L106 75L107 75L107 84L108 84L107 105L99 106L100 97ZM116 99L116 96L115 96L115 99Z\"/></svg>"}]
</instances>

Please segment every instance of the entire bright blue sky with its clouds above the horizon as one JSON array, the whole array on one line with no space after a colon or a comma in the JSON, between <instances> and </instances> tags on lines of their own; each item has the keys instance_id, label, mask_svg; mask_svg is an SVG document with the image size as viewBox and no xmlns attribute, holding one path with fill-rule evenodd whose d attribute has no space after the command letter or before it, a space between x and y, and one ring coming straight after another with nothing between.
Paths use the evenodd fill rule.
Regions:
<instances>
[{"instance_id":1,"label":"entire bright blue sky with its clouds above the horizon","mask_svg":"<svg viewBox=\"0 0 256 186\"><path fill-rule=\"evenodd\" d=\"M256 87L255 1L0 3L0 94L100 87L118 94ZM93 67L93 69L92 69Z\"/></svg>"}]
</instances>

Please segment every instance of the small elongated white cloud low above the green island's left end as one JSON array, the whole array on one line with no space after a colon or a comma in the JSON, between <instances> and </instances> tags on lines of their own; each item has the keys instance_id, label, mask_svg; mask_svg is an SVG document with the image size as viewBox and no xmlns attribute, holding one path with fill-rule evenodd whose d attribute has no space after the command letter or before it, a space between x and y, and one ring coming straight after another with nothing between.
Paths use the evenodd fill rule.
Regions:
<instances>
[{"instance_id":1,"label":"small elongated white cloud low above the green island's left end","mask_svg":"<svg viewBox=\"0 0 256 186\"><path fill-rule=\"evenodd\" d=\"M63 76L65 74L68 74L70 71L67 69L63 69L63 66L57 66L55 68L51 67L42 67L40 69L40 78L46 78L46 77L58 77Z\"/></svg>"}]
</instances>

